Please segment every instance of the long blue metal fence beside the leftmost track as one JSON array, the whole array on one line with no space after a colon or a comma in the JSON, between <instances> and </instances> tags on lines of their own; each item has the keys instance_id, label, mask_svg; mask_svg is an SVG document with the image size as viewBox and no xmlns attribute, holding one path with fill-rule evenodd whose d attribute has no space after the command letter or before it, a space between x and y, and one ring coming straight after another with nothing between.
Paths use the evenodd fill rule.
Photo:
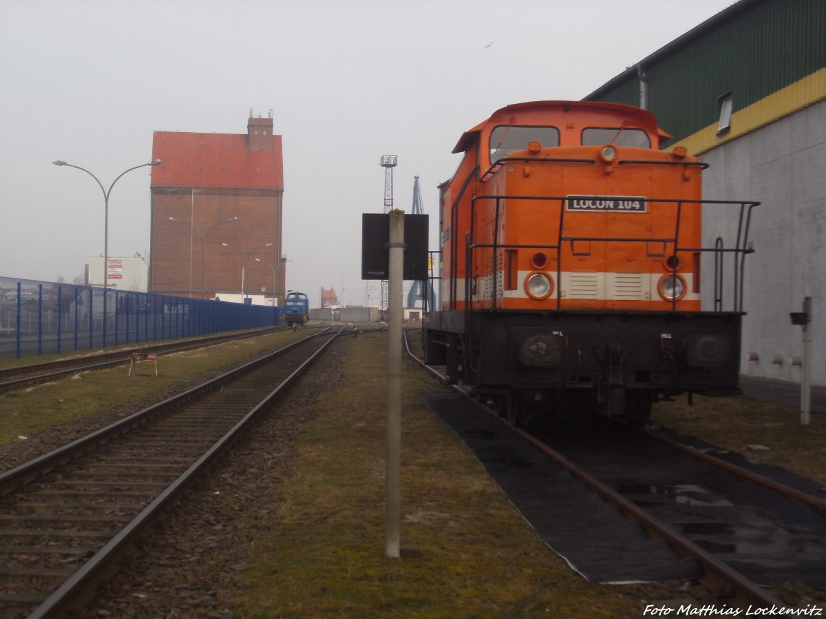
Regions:
<instances>
[{"instance_id":1,"label":"long blue metal fence beside the leftmost track","mask_svg":"<svg viewBox=\"0 0 826 619\"><path fill-rule=\"evenodd\" d=\"M278 324L283 308L0 277L0 357L191 338Z\"/></svg>"}]
</instances>

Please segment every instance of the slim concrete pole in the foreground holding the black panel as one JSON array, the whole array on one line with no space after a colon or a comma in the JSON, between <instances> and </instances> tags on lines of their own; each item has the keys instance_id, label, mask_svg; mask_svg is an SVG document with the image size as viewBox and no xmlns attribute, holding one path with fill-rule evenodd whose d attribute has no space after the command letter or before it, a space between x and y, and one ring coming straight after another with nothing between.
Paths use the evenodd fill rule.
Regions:
<instances>
[{"instance_id":1,"label":"slim concrete pole in the foreground holding the black panel","mask_svg":"<svg viewBox=\"0 0 826 619\"><path fill-rule=\"evenodd\" d=\"M405 213L392 210L387 295L387 550L399 558L401 527L401 286L404 280Z\"/></svg>"}]
</instances>

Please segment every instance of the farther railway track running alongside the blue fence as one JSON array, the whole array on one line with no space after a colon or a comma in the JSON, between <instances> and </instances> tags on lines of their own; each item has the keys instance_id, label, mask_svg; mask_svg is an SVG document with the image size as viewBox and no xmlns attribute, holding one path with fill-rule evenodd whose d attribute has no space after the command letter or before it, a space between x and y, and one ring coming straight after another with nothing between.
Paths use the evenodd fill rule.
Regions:
<instances>
[{"instance_id":1,"label":"farther railway track running alongside the blue fence","mask_svg":"<svg viewBox=\"0 0 826 619\"><path fill-rule=\"evenodd\" d=\"M287 329L289 329L289 327L256 329L244 333L229 333L207 338L179 340L173 343L121 348L120 350L112 352L99 352L93 355L83 355L83 357L68 357L57 361L45 361L43 363L33 363L26 366L4 367L0 368L0 393L49 382L50 380L58 380L64 376L76 374L79 371L103 370L107 367L119 366L123 363L130 362L133 352L145 352L157 356L169 355L173 352L213 346L235 339L254 338L265 333L277 333L278 331L285 331Z\"/></svg>"}]
</instances>

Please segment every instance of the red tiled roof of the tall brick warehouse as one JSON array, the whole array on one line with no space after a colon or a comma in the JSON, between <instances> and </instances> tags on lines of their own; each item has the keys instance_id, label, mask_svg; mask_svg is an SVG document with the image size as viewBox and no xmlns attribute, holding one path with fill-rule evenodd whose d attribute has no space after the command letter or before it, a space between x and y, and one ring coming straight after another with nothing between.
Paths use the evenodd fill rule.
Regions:
<instances>
[{"instance_id":1,"label":"red tiled roof of the tall brick warehouse","mask_svg":"<svg viewBox=\"0 0 826 619\"><path fill-rule=\"evenodd\" d=\"M273 149L247 148L246 134L155 131L152 187L283 189L281 136Z\"/></svg>"}]
</instances>

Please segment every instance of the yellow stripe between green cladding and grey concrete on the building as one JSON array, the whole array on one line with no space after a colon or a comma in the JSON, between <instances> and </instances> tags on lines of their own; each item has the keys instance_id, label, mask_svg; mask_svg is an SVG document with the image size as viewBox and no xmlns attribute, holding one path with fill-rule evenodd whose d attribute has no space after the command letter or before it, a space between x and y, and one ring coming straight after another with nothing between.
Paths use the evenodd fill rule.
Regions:
<instances>
[{"instance_id":1,"label":"yellow stripe between green cladding and grey concrete on the building","mask_svg":"<svg viewBox=\"0 0 826 619\"><path fill-rule=\"evenodd\" d=\"M731 116L731 130L717 135L717 123L681 139L673 146L684 146L689 154L699 155L741 135L789 116L795 111L826 99L826 68L815 71L797 82L763 97L760 101L736 111ZM735 97L734 101L737 99ZM673 148L669 147L670 149Z\"/></svg>"}]
</instances>

